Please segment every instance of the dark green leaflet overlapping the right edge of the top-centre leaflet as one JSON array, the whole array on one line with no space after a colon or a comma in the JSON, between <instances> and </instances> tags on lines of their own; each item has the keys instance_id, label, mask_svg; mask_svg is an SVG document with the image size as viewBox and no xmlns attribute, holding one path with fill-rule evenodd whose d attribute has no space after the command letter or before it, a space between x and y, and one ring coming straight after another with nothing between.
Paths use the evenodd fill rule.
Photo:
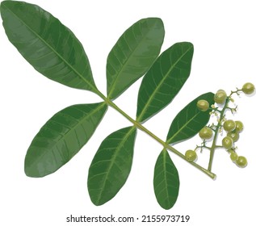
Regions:
<instances>
[{"instance_id":1,"label":"dark green leaflet overlapping the right edge of the top-centre leaflet","mask_svg":"<svg viewBox=\"0 0 256 226\"><path fill-rule=\"evenodd\" d=\"M137 121L157 114L178 94L190 75L193 50L191 43L177 43L157 58L141 82Z\"/></svg>"}]
</instances>

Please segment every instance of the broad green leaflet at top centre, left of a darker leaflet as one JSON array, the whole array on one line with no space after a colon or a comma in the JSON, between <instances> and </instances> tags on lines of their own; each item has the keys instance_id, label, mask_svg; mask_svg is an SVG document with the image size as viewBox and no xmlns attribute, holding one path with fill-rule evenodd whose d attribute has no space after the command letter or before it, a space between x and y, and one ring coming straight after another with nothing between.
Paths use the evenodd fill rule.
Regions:
<instances>
[{"instance_id":1,"label":"broad green leaflet at top centre, left of a darker leaflet","mask_svg":"<svg viewBox=\"0 0 256 226\"><path fill-rule=\"evenodd\" d=\"M116 98L149 70L160 53L162 19L147 18L124 31L107 57L107 95Z\"/></svg>"}]
</instances>

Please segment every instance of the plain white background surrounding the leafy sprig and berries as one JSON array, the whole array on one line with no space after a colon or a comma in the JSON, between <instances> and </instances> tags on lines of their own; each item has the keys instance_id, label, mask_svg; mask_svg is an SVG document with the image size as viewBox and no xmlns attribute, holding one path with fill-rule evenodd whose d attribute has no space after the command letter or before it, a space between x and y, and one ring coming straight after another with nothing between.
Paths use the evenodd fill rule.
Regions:
<instances>
[{"instance_id":1,"label":"plain white background surrounding the leafy sprig and berries","mask_svg":"<svg viewBox=\"0 0 256 226\"><path fill-rule=\"evenodd\" d=\"M162 51L175 42L194 44L191 77L183 90L168 107L145 123L146 128L163 140L174 116L199 94L220 88L229 92L241 88L245 82L256 84L254 1L28 2L48 10L74 32L86 50L94 80L104 94L107 54L119 36L137 20L162 18L166 29ZM162 147L143 132L138 132L128 181L114 199L95 207L86 189L90 161L108 134L130 123L109 108L94 136L72 161L45 178L27 178L23 173L24 157L40 127L64 107L99 102L100 99L90 92L62 86L37 73L7 40L3 27L0 27L0 65L1 225L68 225L65 218L71 214L113 214L140 219L142 215L189 215L188 223L175 225L255 224L255 95L236 98L239 111L234 118L229 115L245 124L237 142L237 152L249 161L245 169L237 168L224 150L217 150L212 168L217 179L213 181L170 153L178 168L180 190L175 206L165 211L158 206L153 194L153 167ZM140 82L115 101L132 117L136 115ZM199 137L195 137L178 145L177 149L185 152L199 143ZM207 151L199 153L199 162L207 166Z\"/></svg>"}]
</instances>

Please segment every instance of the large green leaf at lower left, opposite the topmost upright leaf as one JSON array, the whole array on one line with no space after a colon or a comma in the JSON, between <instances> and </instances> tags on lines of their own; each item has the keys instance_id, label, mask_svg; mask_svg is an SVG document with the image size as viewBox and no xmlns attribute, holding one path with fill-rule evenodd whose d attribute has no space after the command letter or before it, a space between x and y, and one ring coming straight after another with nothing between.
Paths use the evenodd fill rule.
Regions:
<instances>
[{"instance_id":1,"label":"large green leaf at lower left, opposite the topmost upright leaf","mask_svg":"<svg viewBox=\"0 0 256 226\"><path fill-rule=\"evenodd\" d=\"M93 135L105 111L105 103L90 103L66 107L53 115L27 150L27 176L44 177L65 165Z\"/></svg>"}]
</instances>

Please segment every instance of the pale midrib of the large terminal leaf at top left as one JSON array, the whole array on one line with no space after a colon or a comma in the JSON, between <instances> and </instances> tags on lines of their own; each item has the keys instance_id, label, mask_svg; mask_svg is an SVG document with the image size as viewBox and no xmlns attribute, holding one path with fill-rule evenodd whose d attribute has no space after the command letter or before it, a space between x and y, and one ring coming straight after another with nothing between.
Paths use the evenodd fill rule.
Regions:
<instances>
[{"instance_id":1,"label":"pale midrib of the large terminal leaf at top left","mask_svg":"<svg viewBox=\"0 0 256 226\"><path fill-rule=\"evenodd\" d=\"M5 5L3 5L3 6L5 6ZM66 61L63 57L61 57L61 55L60 55L57 51L55 51L55 49L52 48L52 46L51 46L50 44L48 44L41 36L39 36L39 35L36 33L36 31L34 31L31 27L29 27L29 26L27 25L27 23L25 23L25 22L23 21L23 19L20 19L19 16L16 15L14 11L10 10L10 8L8 8L7 6L5 6L5 7L6 7L7 10L10 11L10 13L12 13L13 15L15 15L15 17L16 17L17 19L19 19L19 21L21 21L21 22L23 23L23 25L26 26L38 39L40 39L48 48L50 48L50 49L52 50L52 52L54 52L54 53L57 55L57 57L59 57L62 61L64 61L64 63L65 63L66 65L68 65L68 67L69 67L71 70L73 70L73 72L76 73L76 74L78 75L78 77L80 77L80 78L82 79L82 81L86 82L86 84L87 84L88 86L90 86L91 90L92 90L95 94L99 94L99 90L96 88L96 86L91 85L90 82L88 82L88 81L86 80L86 78L82 76L82 74L78 73L78 71L77 71L76 69L74 69L73 66L69 64L68 61ZM50 14L49 14L49 15L50 15ZM50 15L50 16L53 17L52 15ZM55 19L55 18L53 17L53 19ZM60 23L61 23L61 22L60 22ZM65 25L63 25L63 26L65 26Z\"/></svg>"}]
</instances>

